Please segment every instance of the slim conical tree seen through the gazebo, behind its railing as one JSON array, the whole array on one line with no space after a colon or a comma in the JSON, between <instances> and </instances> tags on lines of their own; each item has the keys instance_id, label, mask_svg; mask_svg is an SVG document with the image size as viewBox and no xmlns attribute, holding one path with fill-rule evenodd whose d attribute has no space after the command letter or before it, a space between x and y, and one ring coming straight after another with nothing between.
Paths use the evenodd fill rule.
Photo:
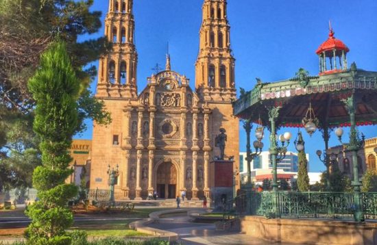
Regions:
<instances>
[{"instance_id":1,"label":"slim conical tree seen through the gazebo, behind its railing","mask_svg":"<svg viewBox=\"0 0 377 245\"><path fill-rule=\"evenodd\" d=\"M304 145L302 133L298 132L298 142ZM298 153L298 174L297 174L297 188L300 192L307 192L310 188L308 176L308 161L306 160L305 149Z\"/></svg>"}]
</instances>

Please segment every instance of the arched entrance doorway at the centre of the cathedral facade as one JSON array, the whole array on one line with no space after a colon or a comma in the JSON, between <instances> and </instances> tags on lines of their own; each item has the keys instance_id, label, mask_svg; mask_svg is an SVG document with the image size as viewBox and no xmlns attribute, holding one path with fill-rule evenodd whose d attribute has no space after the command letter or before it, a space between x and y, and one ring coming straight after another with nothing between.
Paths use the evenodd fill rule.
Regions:
<instances>
[{"instance_id":1,"label":"arched entrance doorway at the centre of the cathedral facade","mask_svg":"<svg viewBox=\"0 0 377 245\"><path fill-rule=\"evenodd\" d=\"M177 169L171 162L158 166L156 190L160 198L175 198L177 194Z\"/></svg>"}]
</instances>

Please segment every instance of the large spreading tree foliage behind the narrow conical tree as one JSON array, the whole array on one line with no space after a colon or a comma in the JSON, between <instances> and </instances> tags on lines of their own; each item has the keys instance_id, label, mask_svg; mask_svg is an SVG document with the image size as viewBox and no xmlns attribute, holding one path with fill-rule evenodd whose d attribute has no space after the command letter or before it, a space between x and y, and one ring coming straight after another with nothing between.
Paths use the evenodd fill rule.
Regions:
<instances>
[{"instance_id":1,"label":"large spreading tree foliage behind the narrow conical tree","mask_svg":"<svg viewBox=\"0 0 377 245\"><path fill-rule=\"evenodd\" d=\"M93 34L101 26L101 13L91 12L91 5L93 0L0 0L0 190L31 185L31 178L23 181L23 173L18 170L40 164L27 160L31 152L36 159L40 155L38 137L30 123L35 101L27 81L38 68L40 54L56 36L66 42L75 76L80 79L75 132L86 129L86 118L99 124L110 123L104 104L90 93L89 84L96 69L88 66L110 50L110 44L106 38L77 42L79 36ZM21 137L15 140L14 136Z\"/></svg>"}]
</instances>

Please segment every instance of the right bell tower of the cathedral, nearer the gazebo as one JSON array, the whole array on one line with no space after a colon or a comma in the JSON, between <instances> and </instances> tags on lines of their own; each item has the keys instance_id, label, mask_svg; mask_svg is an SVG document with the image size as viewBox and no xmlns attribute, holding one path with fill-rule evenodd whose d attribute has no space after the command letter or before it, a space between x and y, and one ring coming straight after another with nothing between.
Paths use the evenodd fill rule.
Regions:
<instances>
[{"instance_id":1,"label":"right bell tower of the cathedral, nearer the gazebo","mask_svg":"<svg viewBox=\"0 0 377 245\"><path fill-rule=\"evenodd\" d=\"M205 0L195 64L195 88L205 101L235 99L234 57L226 0Z\"/></svg>"}]
</instances>

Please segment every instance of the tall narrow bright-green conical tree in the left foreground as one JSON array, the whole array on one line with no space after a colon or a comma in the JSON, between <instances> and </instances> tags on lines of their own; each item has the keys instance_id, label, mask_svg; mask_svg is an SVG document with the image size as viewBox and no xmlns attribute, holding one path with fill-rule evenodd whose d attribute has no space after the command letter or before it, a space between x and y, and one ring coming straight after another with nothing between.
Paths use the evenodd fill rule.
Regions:
<instances>
[{"instance_id":1,"label":"tall narrow bright-green conical tree in the left foreground","mask_svg":"<svg viewBox=\"0 0 377 245\"><path fill-rule=\"evenodd\" d=\"M26 214L32 219L25 232L28 244L71 244L66 229L73 224L68 201L77 195L73 184L64 183L73 172L68 168L77 129L77 99L80 80L76 78L63 42L51 45L40 58L40 68L29 80L36 101L34 131L40 138L42 166L33 172L39 201Z\"/></svg>"}]
</instances>

